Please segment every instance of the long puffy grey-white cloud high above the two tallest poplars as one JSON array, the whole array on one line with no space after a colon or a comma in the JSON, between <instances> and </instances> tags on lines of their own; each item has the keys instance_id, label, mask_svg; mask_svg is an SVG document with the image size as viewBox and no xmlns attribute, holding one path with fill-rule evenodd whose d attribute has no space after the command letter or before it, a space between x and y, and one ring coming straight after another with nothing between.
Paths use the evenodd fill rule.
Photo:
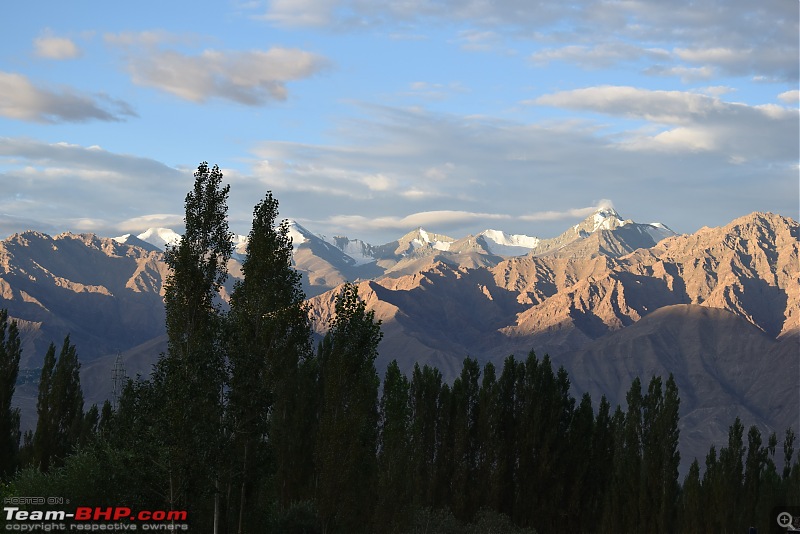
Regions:
<instances>
[{"instance_id":1,"label":"long puffy grey-white cloud high above the two tallest poplars","mask_svg":"<svg viewBox=\"0 0 800 534\"><path fill-rule=\"evenodd\" d=\"M287 82L310 77L325 65L322 57L291 48L249 52L205 50L197 56L150 50L132 59L128 70L134 83L191 102L221 98L258 106L285 100Z\"/></svg>"}]
</instances>

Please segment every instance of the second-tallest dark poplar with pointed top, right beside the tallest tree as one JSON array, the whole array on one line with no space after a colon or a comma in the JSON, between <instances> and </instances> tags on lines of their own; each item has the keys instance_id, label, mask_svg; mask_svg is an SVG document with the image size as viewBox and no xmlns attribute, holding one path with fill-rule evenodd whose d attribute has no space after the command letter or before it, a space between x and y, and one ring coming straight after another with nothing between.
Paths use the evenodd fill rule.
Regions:
<instances>
[{"instance_id":1,"label":"second-tallest dark poplar with pointed top, right beside the tallest tree","mask_svg":"<svg viewBox=\"0 0 800 534\"><path fill-rule=\"evenodd\" d=\"M311 496L313 419L301 389L312 357L311 326L300 273L292 267L289 222L277 227L278 201L267 192L253 211L253 225L228 314L230 325L228 422L239 473L239 525L252 488L274 476L280 506ZM305 366L305 367L304 367ZM259 469L274 458L275 472Z\"/></svg>"}]
</instances>

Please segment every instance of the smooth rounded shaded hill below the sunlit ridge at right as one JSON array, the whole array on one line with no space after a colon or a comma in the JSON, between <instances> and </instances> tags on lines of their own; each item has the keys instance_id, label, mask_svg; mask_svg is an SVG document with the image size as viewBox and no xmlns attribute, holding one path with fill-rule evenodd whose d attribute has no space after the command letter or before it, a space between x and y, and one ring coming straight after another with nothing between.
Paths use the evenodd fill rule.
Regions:
<instances>
[{"instance_id":1,"label":"smooth rounded shaded hill below the sunlit ridge at right","mask_svg":"<svg viewBox=\"0 0 800 534\"><path fill-rule=\"evenodd\" d=\"M670 373L681 396L684 467L724 443L739 416L745 426L779 435L800 428L800 338L775 340L732 312L698 305L665 306L636 324L577 351L554 356L577 392L625 402L634 378L643 388Z\"/></svg>"}]
</instances>

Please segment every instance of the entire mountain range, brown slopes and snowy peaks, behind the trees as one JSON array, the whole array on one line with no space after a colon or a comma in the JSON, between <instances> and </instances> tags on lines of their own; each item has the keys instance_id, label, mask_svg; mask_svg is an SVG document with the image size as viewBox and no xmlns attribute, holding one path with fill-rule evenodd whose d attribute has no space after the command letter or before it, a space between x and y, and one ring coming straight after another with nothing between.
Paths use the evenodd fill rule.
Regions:
<instances>
[{"instance_id":1,"label":"entire mountain range, brown slopes and snowy peaks, behind the trees","mask_svg":"<svg viewBox=\"0 0 800 534\"><path fill-rule=\"evenodd\" d=\"M382 321L379 372L392 359L452 380L466 356L502 365L550 354L584 391L624 403L631 380L673 373L684 463L722 443L733 418L764 432L800 429L798 223L753 213L677 235L598 210L542 239L486 230L454 239L418 228L383 245L313 234L293 222L294 264L324 332L338 286L355 281ZM16 402L35 414L35 369L69 333L87 402L106 398L117 352L146 375L165 350L163 247L152 229L13 235L0 242L0 307L23 331L29 380ZM231 281L246 238L235 238Z\"/></svg>"}]
</instances>

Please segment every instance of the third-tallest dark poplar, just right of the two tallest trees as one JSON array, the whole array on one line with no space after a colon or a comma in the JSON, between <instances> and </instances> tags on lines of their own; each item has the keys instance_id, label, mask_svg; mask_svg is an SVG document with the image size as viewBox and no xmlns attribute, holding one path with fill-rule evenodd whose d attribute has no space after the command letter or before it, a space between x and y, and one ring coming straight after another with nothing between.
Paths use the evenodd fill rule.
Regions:
<instances>
[{"instance_id":1,"label":"third-tallest dark poplar, just right of the two tallest trees","mask_svg":"<svg viewBox=\"0 0 800 534\"><path fill-rule=\"evenodd\" d=\"M345 284L322 343L322 405L317 436L323 531L370 530L376 486L380 322L358 288Z\"/></svg>"}]
</instances>

